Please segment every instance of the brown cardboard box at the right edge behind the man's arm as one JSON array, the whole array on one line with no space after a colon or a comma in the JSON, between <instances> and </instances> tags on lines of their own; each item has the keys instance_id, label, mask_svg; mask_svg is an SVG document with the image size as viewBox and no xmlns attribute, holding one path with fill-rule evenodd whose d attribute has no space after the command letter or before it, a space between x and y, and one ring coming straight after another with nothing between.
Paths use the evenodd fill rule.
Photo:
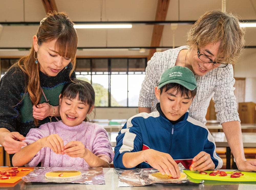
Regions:
<instances>
[{"instance_id":1,"label":"brown cardboard box at the right edge behind the man's arm","mask_svg":"<svg viewBox=\"0 0 256 190\"><path fill-rule=\"evenodd\" d=\"M241 123L255 123L256 104L254 102L238 103L238 113Z\"/></svg>"}]
</instances>

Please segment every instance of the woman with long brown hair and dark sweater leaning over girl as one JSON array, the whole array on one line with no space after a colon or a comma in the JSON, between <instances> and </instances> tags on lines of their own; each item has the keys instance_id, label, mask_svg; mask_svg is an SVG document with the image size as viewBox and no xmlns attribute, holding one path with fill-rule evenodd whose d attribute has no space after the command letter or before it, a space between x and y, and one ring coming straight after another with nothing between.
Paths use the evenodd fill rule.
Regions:
<instances>
[{"instance_id":1,"label":"woman with long brown hair and dark sweater leaning over girl","mask_svg":"<svg viewBox=\"0 0 256 190\"><path fill-rule=\"evenodd\" d=\"M75 77L76 50L73 22L65 13L48 13L33 37L29 55L20 58L0 81L0 144L7 153L24 146L21 140L29 129L57 121L59 94Z\"/></svg>"}]
</instances>

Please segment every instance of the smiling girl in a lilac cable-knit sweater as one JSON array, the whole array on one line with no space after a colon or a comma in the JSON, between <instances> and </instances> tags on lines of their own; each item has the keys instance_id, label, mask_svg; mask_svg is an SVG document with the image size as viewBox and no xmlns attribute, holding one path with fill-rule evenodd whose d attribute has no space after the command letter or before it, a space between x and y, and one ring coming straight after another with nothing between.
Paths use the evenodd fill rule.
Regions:
<instances>
[{"instance_id":1,"label":"smiling girl in a lilac cable-knit sweater","mask_svg":"<svg viewBox=\"0 0 256 190\"><path fill-rule=\"evenodd\" d=\"M59 96L62 121L30 129L23 142L28 146L13 156L14 166L110 167L114 153L106 130L87 121L95 93L85 81L68 82Z\"/></svg>"}]
</instances>

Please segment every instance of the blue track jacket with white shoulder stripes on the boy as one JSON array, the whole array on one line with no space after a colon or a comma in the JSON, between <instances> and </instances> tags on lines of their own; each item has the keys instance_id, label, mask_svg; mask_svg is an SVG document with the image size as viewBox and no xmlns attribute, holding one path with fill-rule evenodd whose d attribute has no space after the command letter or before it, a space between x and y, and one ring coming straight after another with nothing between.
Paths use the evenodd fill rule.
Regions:
<instances>
[{"instance_id":1,"label":"blue track jacket with white shoulder stripes on the boy","mask_svg":"<svg viewBox=\"0 0 256 190\"><path fill-rule=\"evenodd\" d=\"M216 153L216 145L207 127L188 116L172 124L158 111L139 113L131 117L116 137L114 167L125 168L122 162L125 152L154 149L169 153L176 163L181 162L186 169L200 152L211 155L215 169L222 167L222 160ZM134 167L135 168L135 167ZM146 161L136 168L152 168Z\"/></svg>"}]
</instances>

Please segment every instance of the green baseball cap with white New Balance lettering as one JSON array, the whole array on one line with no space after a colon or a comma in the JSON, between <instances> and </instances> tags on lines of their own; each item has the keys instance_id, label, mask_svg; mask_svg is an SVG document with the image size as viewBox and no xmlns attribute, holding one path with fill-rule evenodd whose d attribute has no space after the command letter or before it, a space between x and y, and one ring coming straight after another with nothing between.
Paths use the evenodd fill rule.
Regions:
<instances>
[{"instance_id":1,"label":"green baseball cap with white New Balance lettering","mask_svg":"<svg viewBox=\"0 0 256 190\"><path fill-rule=\"evenodd\" d=\"M168 83L178 83L189 90L196 88L196 77L194 73L187 67L175 65L165 70L157 89Z\"/></svg>"}]
</instances>

